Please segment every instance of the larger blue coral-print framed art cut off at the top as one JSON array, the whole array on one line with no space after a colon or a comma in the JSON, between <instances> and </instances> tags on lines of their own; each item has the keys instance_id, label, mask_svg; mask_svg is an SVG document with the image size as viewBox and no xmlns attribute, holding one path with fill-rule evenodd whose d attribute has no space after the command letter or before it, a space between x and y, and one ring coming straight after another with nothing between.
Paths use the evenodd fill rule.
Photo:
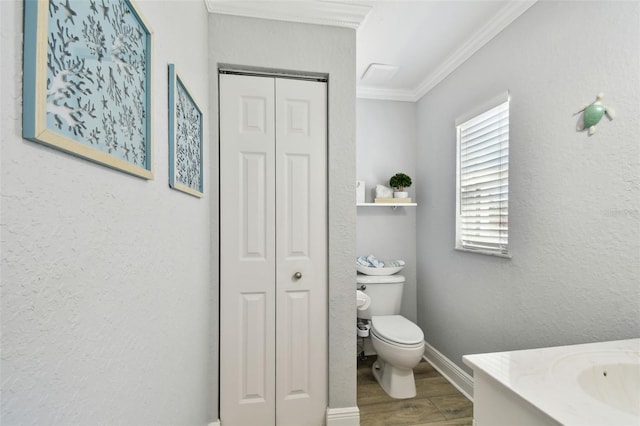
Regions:
<instances>
[{"instance_id":1,"label":"larger blue coral-print framed art cut off at the top","mask_svg":"<svg viewBox=\"0 0 640 426\"><path fill-rule=\"evenodd\" d=\"M23 137L152 179L152 33L132 1L24 11Z\"/></svg>"}]
</instances>

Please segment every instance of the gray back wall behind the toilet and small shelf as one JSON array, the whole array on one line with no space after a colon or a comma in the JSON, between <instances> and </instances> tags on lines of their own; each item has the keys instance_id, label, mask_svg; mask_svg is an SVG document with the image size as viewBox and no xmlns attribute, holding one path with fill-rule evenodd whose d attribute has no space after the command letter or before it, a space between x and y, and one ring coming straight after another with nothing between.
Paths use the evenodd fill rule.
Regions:
<instances>
[{"instance_id":1,"label":"gray back wall behind the toilet and small shelf","mask_svg":"<svg viewBox=\"0 0 640 426\"><path fill-rule=\"evenodd\" d=\"M375 186L389 186L398 172L411 176L407 190L416 200L416 105L413 102L358 99L356 103L356 176L367 186L373 202ZM402 295L402 315L416 321L416 207L358 207L357 254L381 259L402 259L400 272L407 279Z\"/></svg>"}]
</instances>

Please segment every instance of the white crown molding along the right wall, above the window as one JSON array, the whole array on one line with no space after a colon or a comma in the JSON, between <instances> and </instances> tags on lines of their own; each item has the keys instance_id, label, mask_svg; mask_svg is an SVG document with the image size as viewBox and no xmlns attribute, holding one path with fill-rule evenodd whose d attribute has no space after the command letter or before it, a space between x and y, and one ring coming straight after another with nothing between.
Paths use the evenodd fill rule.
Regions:
<instances>
[{"instance_id":1,"label":"white crown molding along the right wall, above the window","mask_svg":"<svg viewBox=\"0 0 640 426\"><path fill-rule=\"evenodd\" d=\"M509 26L520 15L526 12L538 0L510 1L482 28L474 33L466 43L460 46L447 60L433 73L429 74L416 88L414 102L426 95L431 89L444 80L456 68L462 65L474 53L480 50L491 39Z\"/></svg>"}]
</instances>

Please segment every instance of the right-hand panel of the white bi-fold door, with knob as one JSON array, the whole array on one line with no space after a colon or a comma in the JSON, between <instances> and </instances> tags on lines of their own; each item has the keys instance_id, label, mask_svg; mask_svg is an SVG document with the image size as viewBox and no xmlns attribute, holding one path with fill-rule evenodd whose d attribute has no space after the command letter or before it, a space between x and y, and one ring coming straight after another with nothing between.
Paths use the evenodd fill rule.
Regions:
<instances>
[{"instance_id":1,"label":"right-hand panel of the white bi-fold door, with knob","mask_svg":"<svg viewBox=\"0 0 640 426\"><path fill-rule=\"evenodd\" d=\"M276 79L276 424L327 407L326 83Z\"/></svg>"}]
</instances>

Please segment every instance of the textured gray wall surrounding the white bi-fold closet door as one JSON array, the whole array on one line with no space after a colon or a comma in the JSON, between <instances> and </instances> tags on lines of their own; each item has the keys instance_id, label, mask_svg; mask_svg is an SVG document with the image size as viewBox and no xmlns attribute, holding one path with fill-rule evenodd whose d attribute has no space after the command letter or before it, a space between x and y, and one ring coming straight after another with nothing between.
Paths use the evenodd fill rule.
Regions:
<instances>
[{"instance_id":1,"label":"textured gray wall surrounding the white bi-fold closet door","mask_svg":"<svg viewBox=\"0 0 640 426\"><path fill-rule=\"evenodd\" d=\"M211 129L217 139L218 64L329 75L329 406L356 406L355 31L213 14ZM217 161L217 158L216 158ZM212 158L212 164L213 158ZM224 208L224 206L222 206ZM214 324L214 329L217 329ZM224 350L224 348L222 348Z\"/></svg>"}]
</instances>

